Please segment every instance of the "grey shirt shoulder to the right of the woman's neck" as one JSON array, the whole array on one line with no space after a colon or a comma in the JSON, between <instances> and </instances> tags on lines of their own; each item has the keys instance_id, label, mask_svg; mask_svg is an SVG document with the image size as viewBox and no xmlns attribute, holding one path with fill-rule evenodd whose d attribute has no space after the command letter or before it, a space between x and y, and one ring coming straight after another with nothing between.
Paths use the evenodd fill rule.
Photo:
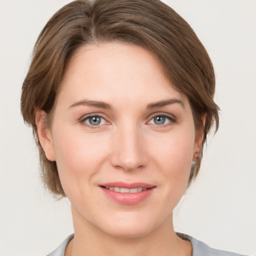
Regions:
<instances>
[{"instance_id":1,"label":"grey shirt shoulder to the right of the woman's neck","mask_svg":"<svg viewBox=\"0 0 256 256\"><path fill-rule=\"evenodd\" d=\"M177 233L177 235L180 238L189 240L191 242L193 248L192 256L242 256L241 254L230 251L213 249L204 242L199 241L187 234Z\"/></svg>"}]
</instances>

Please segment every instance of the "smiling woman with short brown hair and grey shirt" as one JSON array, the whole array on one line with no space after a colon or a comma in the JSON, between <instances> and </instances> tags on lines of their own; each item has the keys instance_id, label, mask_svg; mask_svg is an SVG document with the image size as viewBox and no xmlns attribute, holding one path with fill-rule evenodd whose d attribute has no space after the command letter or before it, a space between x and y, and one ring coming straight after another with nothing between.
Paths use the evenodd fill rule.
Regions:
<instances>
[{"instance_id":1,"label":"smiling woman with short brown hair and grey shirt","mask_svg":"<svg viewBox=\"0 0 256 256\"><path fill-rule=\"evenodd\" d=\"M45 184L74 235L49 255L238 255L175 233L218 107L191 27L156 0L73 1L47 22L23 82Z\"/></svg>"}]
</instances>

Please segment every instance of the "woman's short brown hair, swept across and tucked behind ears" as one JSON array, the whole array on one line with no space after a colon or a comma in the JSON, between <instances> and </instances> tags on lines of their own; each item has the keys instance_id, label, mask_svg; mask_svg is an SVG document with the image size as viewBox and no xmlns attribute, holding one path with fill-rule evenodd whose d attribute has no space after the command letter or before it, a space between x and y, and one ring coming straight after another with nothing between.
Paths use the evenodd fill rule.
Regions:
<instances>
[{"instance_id":1,"label":"woman's short brown hair, swept across and tucked behind ears","mask_svg":"<svg viewBox=\"0 0 256 256\"><path fill-rule=\"evenodd\" d=\"M39 143L35 111L52 115L66 64L81 45L121 41L150 50L160 61L166 78L189 100L196 132L203 143L215 120L215 77L211 60L188 23L160 0L76 0L59 9L40 32L22 85L21 112L32 126L39 148L42 178L48 189L65 195L55 161L49 161ZM50 121L50 120L48 120ZM188 185L196 177L202 148L191 166Z\"/></svg>"}]
</instances>

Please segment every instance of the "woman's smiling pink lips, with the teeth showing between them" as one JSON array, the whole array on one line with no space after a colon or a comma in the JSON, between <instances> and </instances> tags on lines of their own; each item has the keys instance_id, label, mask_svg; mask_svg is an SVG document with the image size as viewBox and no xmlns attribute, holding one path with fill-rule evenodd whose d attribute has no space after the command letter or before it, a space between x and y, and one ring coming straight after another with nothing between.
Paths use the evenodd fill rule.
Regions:
<instances>
[{"instance_id":1,"label":"woman's smiling pink lips, with the teeth showing between them","mask_svg":"<svg viewBox=\"0 0 256 256\"><path fill-rule=\"evenodd\" d=\"M110 182L98 185L105 195L122 204L136 204L146 199L156 186L143 183Z\"/></svg>"}]
</instances>

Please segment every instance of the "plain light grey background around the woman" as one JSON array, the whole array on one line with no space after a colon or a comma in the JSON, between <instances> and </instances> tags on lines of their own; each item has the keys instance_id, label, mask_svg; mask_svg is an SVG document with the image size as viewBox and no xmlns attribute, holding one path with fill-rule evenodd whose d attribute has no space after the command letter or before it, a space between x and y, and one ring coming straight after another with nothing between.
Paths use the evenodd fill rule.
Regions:
<instances>
[{"instance_id":1,"label":"plain light grey background around the woman","mask_svg":"<svg viewBox=\"0 0 256 256\"><path fill-rule=\"evenodd\" d=\"M72 232L67 199L39 179L20 88L41 28L68 0L0 0L0 255L44 255ZM212 58L220 127L174 212L176 231L220 249L256 253L256 1L165 0Z\"/></svg>"}]
</instances>

